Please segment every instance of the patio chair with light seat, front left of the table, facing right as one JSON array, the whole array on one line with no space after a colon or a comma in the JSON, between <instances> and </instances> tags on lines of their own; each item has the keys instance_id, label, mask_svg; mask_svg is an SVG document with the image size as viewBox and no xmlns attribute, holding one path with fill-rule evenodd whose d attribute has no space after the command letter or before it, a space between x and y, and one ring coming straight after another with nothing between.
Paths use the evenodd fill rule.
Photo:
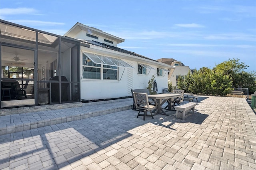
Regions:
<instances>
[{"instance_id":1,"label":"patio chair with light seat, front left of the table, facing right","mask_svg":"<svg viewBox=\"0 0 256 170\"><path fill-rule=\"evenodd\" d=\"M152 119L154 119L152 110L155 110L156 106L150 105L150 103L156 103L156 101L148 101L148 93L133 92L133 97L135 101L135 108L139 110L137 118L139 116L143 116L143 120L145 121L146 116L151 116ZM143 114L140 114L140 111L143 111ZM147 115L147 111L149 111L151 115Z\"/></svg>"}]
</instances>

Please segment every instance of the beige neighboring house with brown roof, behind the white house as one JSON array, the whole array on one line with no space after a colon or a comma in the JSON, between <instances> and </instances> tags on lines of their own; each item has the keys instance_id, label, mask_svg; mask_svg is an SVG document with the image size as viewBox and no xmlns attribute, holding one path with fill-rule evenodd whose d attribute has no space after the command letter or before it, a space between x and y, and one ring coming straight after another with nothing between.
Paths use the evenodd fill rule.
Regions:
<instances>
[{"instance_id":1,"label":"beige neighboring house with brown roof, behind the white house","mask_svg":"<svg viewBox=\"0 0 256 170\"><path fill-rule=\"evenodd\" d=\"M192 71L190 70L190 68L188 66L185 66L182 62L177 61L175 59L161 58L161 59L157 59L157 61L169 64L169 65L175 67L175 69L171 69L168 74L168 81L170 81L173 86L178 85L179 76L185 77L185 75L188 74L188 71L190 71L190 73L192 73Z\"/></svg>"}]
</instances>

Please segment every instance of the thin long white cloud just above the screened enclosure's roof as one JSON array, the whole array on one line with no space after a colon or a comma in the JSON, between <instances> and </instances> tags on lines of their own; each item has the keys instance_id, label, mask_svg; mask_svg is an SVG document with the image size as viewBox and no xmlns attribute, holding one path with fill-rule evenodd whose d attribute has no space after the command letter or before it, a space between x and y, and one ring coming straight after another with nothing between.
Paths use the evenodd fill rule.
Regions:
<instances>
[{"instance_id":1,"label":"thin long white cloud just above the screened enclosure's roof","mask_svg":"<svg viewBox=\"0 0 256 170\"><path fill-rule=\"evenodd\" d=\"M39 20L8 20L9 22L14 22L22 25L32 25L32 26L56 26L65 25L63 22L49 22L49 21L39 21Z\"/></svg>"}]
</instances>

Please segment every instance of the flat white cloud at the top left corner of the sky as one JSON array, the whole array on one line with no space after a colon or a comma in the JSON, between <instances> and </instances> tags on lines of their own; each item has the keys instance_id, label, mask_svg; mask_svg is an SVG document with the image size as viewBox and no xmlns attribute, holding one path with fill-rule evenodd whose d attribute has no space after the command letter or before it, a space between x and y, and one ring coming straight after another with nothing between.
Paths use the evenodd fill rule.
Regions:
<instances>
[{"instance_id":1,"label":"flat white cloud at the top left corner of the sky","mask_svg":"<svg viewBox=\"0 0 256 170\"><path fill-rule=\"evenodd\" d=\"M1 15L38 14L34 8L2 8Z\"/></svg>"}]
</instances>

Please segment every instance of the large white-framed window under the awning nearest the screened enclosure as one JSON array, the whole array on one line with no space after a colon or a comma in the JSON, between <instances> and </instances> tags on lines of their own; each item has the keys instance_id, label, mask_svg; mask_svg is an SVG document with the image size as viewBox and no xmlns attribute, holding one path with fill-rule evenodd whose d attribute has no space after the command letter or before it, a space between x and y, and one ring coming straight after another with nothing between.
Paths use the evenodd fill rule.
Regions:
<instances>
[{"instance_id":1,"label":"large white-framed window under the awning nearest the screened enclosure","mask_svg":"<svg viewBox=\"0 0 256 170\"><path fill-rule=\"evenodd\" d=\"M83 54L83 78L117 80L118 67L112 65L96 64Z\"/></svg>"}]
</instances>

